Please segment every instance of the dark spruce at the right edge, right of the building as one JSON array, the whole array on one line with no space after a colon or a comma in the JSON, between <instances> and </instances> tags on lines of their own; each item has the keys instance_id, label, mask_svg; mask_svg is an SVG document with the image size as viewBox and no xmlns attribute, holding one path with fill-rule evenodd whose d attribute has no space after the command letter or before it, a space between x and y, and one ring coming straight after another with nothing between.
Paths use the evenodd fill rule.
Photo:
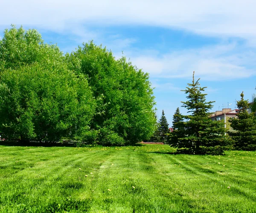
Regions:
<instances>
[{"instance_id":1,"label":"dark spruce at the right edge, right of the building","mask_svg":"<svg viewBox=\"0 0 256 213\"><path fill-rule=\"evenodd\" d=\"M253 113L248 113L249 101L244 100L244 93L241 93L241 100L237 101L239 113L238 118L230 119L230 126L233 128L229 135L235 142L238 150L256 150L256 118Z\"/></svg>"}]
</instances>

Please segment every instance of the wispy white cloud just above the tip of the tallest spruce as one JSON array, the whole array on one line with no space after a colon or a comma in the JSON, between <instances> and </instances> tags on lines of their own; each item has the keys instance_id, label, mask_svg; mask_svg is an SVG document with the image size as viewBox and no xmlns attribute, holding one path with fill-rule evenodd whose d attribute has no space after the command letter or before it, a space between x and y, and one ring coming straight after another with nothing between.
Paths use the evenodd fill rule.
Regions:
<instances>
[{"instance_id":1,"label":"wispy white cloud just above the tip of the tallest spruce","mask_svg":"<svg viewBox=\"0 0 256 213\"><path fill-rule=\"evenodd\" d=\"M209 81L227 81L256 75L255 52L234 53L235 44L207 46L201 49L170 52L160 57L140 55L130 57L138 68L152 78L187 78L195 76ZM138 53L137 53L138 54Z\"/></svg>"}]
</instances>

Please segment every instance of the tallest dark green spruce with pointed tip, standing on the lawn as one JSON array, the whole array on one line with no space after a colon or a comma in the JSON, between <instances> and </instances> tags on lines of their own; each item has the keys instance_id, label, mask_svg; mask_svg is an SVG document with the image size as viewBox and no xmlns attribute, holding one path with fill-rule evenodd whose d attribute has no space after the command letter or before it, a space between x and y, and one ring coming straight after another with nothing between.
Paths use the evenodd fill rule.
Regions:
<instances>
[{"instance_id":1,"label":"tallest dark green spruce with pointed tip, standing on the lawn","mask_svg":"<svg viewBox=\"0 0 256 213\"><path fill-rule=\"evenodd\" d=\"M222 154L227 148L229 140L225 136L226 128L223 121L212 121L209 118L209 109L212 109L214 101L206 101L204 89L199 84L200 78L195 81L193 73L192 83L183 90L188 100L183 107L188 109L190 115L184 116L183 129L180 128L183 137L178 139L177 151L185 151L195 154ZM184 148L184 149L182 149ZM182 149L182 150L179 150Z\"/></svg>"}]
</instances>

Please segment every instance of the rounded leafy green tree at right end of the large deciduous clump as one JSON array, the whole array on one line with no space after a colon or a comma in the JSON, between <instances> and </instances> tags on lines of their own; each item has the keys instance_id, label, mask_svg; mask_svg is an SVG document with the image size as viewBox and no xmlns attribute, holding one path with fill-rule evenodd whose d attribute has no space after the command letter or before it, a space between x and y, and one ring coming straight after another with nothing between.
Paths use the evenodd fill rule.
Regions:
<instances>
[{"instance_id":1,"label":"rounded leafy green tree at right end of the large deciduous clump","mask_svg":"<svg viewBox=\"0 0 256 213\"><path fill-rule=\"evenodd\" d=\"M112 52L93 42L67 54L66 61L88 78L97 100L91 127L99 130L99 143L135 144L152 135L155 102L147 73L124 57L115 60Z\"/></svg>"}]
</instances>

